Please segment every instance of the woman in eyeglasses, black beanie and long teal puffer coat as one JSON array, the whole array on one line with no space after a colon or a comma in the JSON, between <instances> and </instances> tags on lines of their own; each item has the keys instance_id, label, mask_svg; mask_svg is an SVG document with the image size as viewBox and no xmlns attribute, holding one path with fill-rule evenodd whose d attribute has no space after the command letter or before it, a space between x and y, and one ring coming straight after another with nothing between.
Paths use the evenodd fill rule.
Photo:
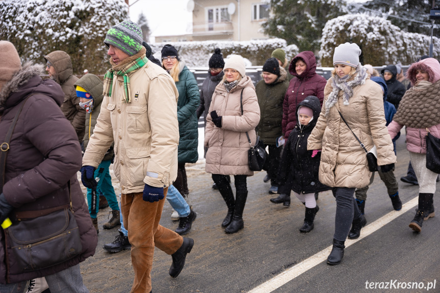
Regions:
<instances>
[{"instance_id":1,"label":"woman in eyeglasses, black beanie and long teal puffer coat","mask_svg":"<svg viewBox=\"0 0 440 293\"><path fill-rule=\"evenodd\" d=\"M173 185L191 206L185 163L196 163L199 157L196 110L200 103L200 93L194 74L186 67L185 61L179 59L176 48L165 45L161 52L162 67L171 75L179 92L177 120L180 138L177 154L177 179ZM176 211L173 212L171 218L173 220L179 219Z\"/></svg>"}]
</instances>

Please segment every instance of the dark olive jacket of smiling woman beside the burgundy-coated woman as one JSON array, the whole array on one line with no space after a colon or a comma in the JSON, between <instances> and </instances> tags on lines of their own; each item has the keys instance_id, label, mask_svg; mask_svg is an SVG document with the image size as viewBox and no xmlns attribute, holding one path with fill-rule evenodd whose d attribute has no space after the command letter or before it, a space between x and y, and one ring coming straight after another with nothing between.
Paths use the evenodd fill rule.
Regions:
<instances>
[{"instance_id":1,"label":"dark olive jacket of smiling woman beside the burgundy-coated woman","mask_svg":"<svg viewBox=\"0 0 440 293\"><path fill-rule=\"evenodd\" d=\"M263 79L255 87L261 113L260 123L256 130L266 145L275 145L276 139L282 135L282 102L289 87L289 81L286 70L282 67L279 70L280 76L275 82L266 84Z\"/></svg>"}]
</instances>

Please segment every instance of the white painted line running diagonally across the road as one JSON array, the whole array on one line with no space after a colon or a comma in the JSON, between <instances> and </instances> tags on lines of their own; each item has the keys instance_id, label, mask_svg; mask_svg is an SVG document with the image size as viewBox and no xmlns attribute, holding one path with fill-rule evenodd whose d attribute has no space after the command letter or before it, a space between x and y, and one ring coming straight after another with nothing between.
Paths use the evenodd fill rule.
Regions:
<instances>
[{"instance_id":1,"label":"white painted line running diagonally across the road","mask_svg":"<svg viewBox=\"0 0 440 293\"><path fill-rule=\"evenodd\" d=\"M368 235L372 234L373 232L379 230L386 224L390 223L397 217L403 215L406 211L410 210L411 208L417 206L419 203L419 197L413 198L410 201L406 202L402 205L402 209L399 211L393 210L386 214L385 216L377 219L373 223L365 226L361 230L361 234L359 238L350 240L347 239L345 242L345 248L349 247L350 245L355 244L356 242L360 241L361 239L367 237ZM302 273L307 272L308 270L314 268L317 264L326 261L328 255L331 252L332 245L321 250L315 255L310 256L309 258L303 260L302 262L294 265L292 268L287 269L286 271L276 275L272 279L264 282L260 286L257 286L253 288L252 290L248 291L248 293L269 293L274 291L275 289L281 287L282 285L292 281Z\"/></svg>"}]
</instances>

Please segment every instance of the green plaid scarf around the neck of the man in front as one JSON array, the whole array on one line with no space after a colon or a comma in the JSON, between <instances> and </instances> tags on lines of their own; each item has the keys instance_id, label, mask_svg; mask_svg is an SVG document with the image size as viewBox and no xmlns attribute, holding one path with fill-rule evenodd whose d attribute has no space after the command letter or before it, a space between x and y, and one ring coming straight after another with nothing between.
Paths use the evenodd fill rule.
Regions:
<instances>
[{"instance_id":1,"label":"green plaid scarf around the neck of the man in front","mask_svg":"<svg viewBox=\"0 0 440 293\"><path fill-rule=\"evenodd\" d=\"M106 72L104 75L104 91L103 95L111 97L112 96L112 87L113 87L113 74L118 76L124 76L124 90L122 94L121 101L123 103L132 102L131 98L131 90L130 90L130 77L128 73L135 72L142 66L144 66L148 62L148 59L144 56L142 58L138 58L130 63L127 63L121 70L115 71L112 68Z\"/></svg>"}]
</instances>

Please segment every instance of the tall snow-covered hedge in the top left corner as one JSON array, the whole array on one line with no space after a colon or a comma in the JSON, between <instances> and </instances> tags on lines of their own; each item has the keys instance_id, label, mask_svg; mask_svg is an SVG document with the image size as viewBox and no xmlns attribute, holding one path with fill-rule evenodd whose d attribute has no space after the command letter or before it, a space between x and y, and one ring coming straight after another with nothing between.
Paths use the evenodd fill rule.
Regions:
<instances>
[{"instance_id":1,"label":"tall snow-covered hedge in the top left corner","mask_svg":"<svg viewBox=\"0 0 440 293\"><path fill-rule=\"evenodd\" d=\"M12 42L22 61L44 62L54 50L66 51L74 73L109 68L103 40L128 16L124 0L0 1L0 39Z\"/></svg>"}]
</instances>

